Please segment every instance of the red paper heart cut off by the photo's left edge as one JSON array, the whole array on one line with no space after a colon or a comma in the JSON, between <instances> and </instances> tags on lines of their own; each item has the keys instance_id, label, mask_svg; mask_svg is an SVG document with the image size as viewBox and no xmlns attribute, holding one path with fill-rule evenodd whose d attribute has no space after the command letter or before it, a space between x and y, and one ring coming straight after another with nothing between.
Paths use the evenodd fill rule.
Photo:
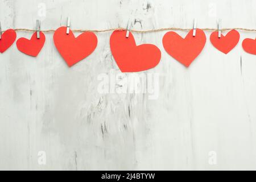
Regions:
<instances>
[{"instance_id":1,"label":"red paper heart cut off by the photo's left edge","mask_svg":"<svg viewBox=\"0 0 256 182\"><path fill-rule=\"evenodd\" d=\"M16 32L13 29L8 29L2 34L0 39L0 52L5 52L11 45L13 45L16 39Z\"/></svg>"}]
</instances>

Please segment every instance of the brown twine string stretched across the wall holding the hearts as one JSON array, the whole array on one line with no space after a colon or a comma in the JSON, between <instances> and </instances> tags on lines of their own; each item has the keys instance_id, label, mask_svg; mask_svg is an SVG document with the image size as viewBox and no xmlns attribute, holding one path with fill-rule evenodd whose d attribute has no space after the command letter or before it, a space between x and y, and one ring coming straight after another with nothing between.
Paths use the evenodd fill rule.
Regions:
<instances>
[{"instance_id":1,"label":"brown twine string stretched across the wall holding the hearts","mask_svg":"<svg viewBox=\"0 0 256 182\"><path fill-rule=\"evenodd\" d=\"M217 28L200 28L204 31L218 31ZM228 31L228 30L241 30L241 31L248 31L248 32L254 32L256 29L249 29L249 28L222 28L221 31ZM27 29L27 28L15 28L15 31L25 31L25 32L35 32L36 30ZM109 29L103 29L103 30L82 30L82 29L75 29L72 30L73 32L109 32L114 30L126 30L126 28L109 28ZM152 30L130 30L131 32L137 32L137 33L146 33L146 32L159 32L159 31L168 31L168 30L174 30L174 31L189 31L191 28L175 28L175 27L169 27L169 28L157 28ZM55 30L41 30L42 32L55 32ZM4 32L4 31L2 31Z\"/></svg>"}]
</instances>

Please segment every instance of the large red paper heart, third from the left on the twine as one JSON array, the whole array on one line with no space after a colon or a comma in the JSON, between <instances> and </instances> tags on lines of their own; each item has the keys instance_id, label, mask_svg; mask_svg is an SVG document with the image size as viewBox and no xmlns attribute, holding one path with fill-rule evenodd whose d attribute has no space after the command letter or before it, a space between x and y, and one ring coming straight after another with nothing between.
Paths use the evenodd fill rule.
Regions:
<instances>
[{"instance_id":1,"label":"large red paper heart, third from the left on the twine","mask_svg":"<svg viewBox=\"0 0 256 182\"><path fill-rule=\"evenodd\" d=\"M97 36L93 32L84 32L77 38L72 31L66 34L67 27L58 28L53 40L60 55L69 67L89 56L97 47Z\"/></svg>"}]
</instances>

